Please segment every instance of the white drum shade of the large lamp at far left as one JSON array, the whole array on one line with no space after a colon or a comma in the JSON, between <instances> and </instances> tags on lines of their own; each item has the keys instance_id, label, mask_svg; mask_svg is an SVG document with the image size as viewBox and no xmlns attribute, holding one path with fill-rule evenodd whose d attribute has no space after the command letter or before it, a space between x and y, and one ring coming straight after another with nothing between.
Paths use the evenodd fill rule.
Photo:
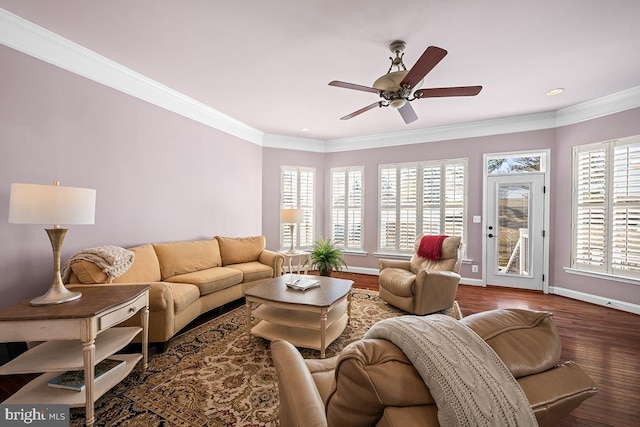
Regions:
<instances>
[{"instance_id":1,"label":"white drum shade of the large lamp at far left","mask_svg":"<svg viewBox=\"0 0 640 427\"><path fill-rule=\"evenodd\" d=\"M12 224L93 224L96 190L57 185L11 184Z\"/></svg>"}]
</instances>

